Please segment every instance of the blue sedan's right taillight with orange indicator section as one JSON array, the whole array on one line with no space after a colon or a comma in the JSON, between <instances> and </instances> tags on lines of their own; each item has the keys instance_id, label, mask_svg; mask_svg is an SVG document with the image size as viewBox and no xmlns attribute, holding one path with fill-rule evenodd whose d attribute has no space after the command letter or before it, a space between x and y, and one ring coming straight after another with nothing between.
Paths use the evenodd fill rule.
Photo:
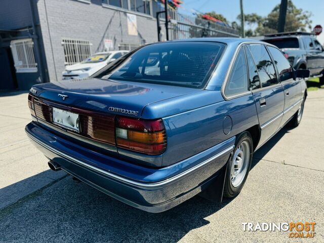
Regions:
<instances>
[{"instance_id":1,"label":"blue sedan's right taillight with orange indicator section","mask_svg":"<svg viewBox=\"0 0 324 243\"><path fill-rule=\"evenodd\" d=\"M166 130L161 119L138 120L117 117L116 144L150 155L163 153L167 148Z\"/></svg>"}]
</instances>

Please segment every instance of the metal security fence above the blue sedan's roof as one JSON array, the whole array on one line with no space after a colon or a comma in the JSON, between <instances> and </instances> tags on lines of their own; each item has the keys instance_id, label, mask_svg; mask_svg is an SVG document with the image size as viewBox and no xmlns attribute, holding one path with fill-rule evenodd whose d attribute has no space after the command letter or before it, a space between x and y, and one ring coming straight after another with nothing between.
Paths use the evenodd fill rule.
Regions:
<instances>
[{"instance_id":1,"label":"metal security fence above the blue sedan's roof","mask_svg":"<svg viewBox=\"0 0 324 243\"><path fill-rule=\"evenodd\" d=\"M169 12L171 39L187 39L197 37L239 37L238 31L225 24L214 23L197 16Z\"/></svg>"}]
</instances>

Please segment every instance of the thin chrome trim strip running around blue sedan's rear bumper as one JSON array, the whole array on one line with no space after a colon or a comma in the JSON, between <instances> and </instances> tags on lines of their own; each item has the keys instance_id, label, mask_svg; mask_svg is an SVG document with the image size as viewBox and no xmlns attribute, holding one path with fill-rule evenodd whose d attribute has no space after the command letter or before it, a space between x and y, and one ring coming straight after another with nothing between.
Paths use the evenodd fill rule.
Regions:
<instances>
[{"instance_id":1,"label":"thin chrome trim strip running around blue sedan's rear bumper","mask_svg":"<svg viewBox=\"0 0 324 243\"><path fill-rule=\"evenodd\" d=\"M230 146L230 147L224 149L223 151L219 152L218 154L215 154L214 156L210 157L209 159L207 159L207 160L201 162L200 164L198 164L198 165L196 165L196 166L194 166L194 167L191 167L190 169L188 169L188 170L186 170L186 171L184 171L184 172L182 172L182 173L180 173L180 174L178 174L178 175L176 175L176 176L174 176L174 177L171 177L171 178L169 178L169 179L166 179L166 180L164 180L164 181L159 181L159 182L156 182L156 183L143 183L143 182L138 182L138 181L130 180L130 179L127 179L127 178L125 178L125 177L121 177L121 176L118 176L118 175L115 175L115 174L109 173L109 172L104 171L104 170L102 170L102 169L100 169L100 168L97 168L97 167L94 167L94 166L89 165L89 164L87 164L87 163L84 163L84 162L81 161L81 160L78 160L78 159L76 159L76 158L74 158L74 157L71 157L71 156L68 155L68 154L65 154L65 153L63 153L63 152L61 152L61 151L59 151L59 150L57 150L57 149L55 149L55 148L50 147L49 145L45 144L45 143L42 142L41 140L35 138L32 134L30 134L29 131L27 131L27 130L25 130L25 131L26 131L28 137L29 137L30 139L32 139L33 141L35 141L36 143L38 143L39 145L41 145L41 146L43 146L44 148L46 148L46 149L52 151L52 152L55 153L55 154L58 154L58 155L60 155L60 156L62 156L62 157L64 157L64 158L67 158L68 160L73 161L73 162L76 163L76 164L82 165L82 166L87 167L87 168L89 168L89 169L91 169L91 170L94 170L94 171L96 171L96 172L99 172L99 173L101 173L101 174L103 174L103 175L106 175L106 176L112 177L112 178L114 178L114 179L117 179L117 180L122 181L122 182L126 182L126 183L131 184L131 185L134 185L134 186L150 187L150 188L152 188L152 187L158 187L158 186L163 186L163 185L165 185L165 184L167 184L167 183L170 183L170 182L172 182L172 181L175 181L175 180L177 180L177 179L179 179L179 178L181 178L181 177L183 177L183 176L189 174L190 172L192 172L192 171L194 171L194 170L197 170L197 169L199 169L200 167L205 166L206 164L210 163L212 160L214 160L214 159L216 159L216 158L218 158L218 157L220 157L220 156L222 156L222 155L225 155L226 153L229 153L229 152L233 151L233 149L234 149L234 147L235 147L234 145L232 145L232 146ZM186 160L186 159L185 159L185 160ZM185 160L182 160L182 161L180 161L179 163L181 163L181 162L183 162L183 161L185 161Z\"/></svg>"}]
</instances>

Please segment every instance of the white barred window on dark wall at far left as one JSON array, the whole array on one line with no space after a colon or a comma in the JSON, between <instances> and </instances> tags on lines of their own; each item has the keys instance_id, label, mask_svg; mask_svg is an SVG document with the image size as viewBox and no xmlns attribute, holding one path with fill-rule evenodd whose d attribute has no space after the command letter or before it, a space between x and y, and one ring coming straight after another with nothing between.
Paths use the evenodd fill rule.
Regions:
<instances>
[{"instance_id":1,"label":"white barred window on dark wall at far left","mask_svg":"<svg viewBox=\"0 0 324 243\"><path fill-rule=\"evenodd\" d=\"M14 58L16 72L37 72L32 39L11 41L10 48Z\"/></svg>"}]
</instances>

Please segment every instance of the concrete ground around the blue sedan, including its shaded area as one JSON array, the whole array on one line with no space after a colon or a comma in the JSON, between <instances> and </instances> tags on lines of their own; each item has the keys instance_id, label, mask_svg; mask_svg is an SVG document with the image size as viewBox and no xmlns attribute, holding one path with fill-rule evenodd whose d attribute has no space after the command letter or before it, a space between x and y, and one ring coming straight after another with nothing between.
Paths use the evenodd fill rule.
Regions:
<instances>
[{"instance_id":1,"label":"concrete ground around the blue sedan, including its shaded area","mask_svg":"<svg viewBox=\"0 0 324 243\"><path fill-rule=\"evenodd\" d=\"M27 94L0 104L0 242L324 242L324 90L309 92L298 128L284 128L255 153L237 197L217 205L196 196L160 214L48 171L24 134ZM242 228L291 221L316 222L315 237Z\"/></svg>"}]
</instances>

